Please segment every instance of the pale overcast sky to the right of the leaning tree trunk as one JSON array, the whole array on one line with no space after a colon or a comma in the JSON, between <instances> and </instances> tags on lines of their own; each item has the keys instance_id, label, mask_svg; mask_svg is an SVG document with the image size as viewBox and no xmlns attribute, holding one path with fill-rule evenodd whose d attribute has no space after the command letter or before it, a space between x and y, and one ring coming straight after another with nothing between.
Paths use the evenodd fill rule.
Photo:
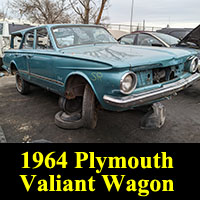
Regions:
<instances>
[{"instance_id":1,"label":"pale overcast sky to the right of the leaning tree trunk","mask_svg":"<svg viewBox=\"0 0 200 200\"><path fill-rule=\"evenodd\" d=\"M129 23L132 0L110 0L111 23ZM133 23L195 27L200 24L200 0L134 0Z\"/></svg>"}]
</instances>

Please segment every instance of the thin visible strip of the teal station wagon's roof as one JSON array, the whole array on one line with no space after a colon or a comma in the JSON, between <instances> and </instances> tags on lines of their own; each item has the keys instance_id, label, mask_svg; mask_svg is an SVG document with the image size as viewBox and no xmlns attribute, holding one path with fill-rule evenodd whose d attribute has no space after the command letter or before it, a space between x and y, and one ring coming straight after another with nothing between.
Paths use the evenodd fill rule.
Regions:
<instances>
[{"instance_id":1,"label":"thin visible strip of the teal station wagon's roof","mask_svg":"<svg viewBox=\"0 0 200 200\"><path fill-rule=\"evenodd\" d=\"M31 30L34 30L36 28L52 28L52 27L63 27L63 26L81 26L81 27L103 27L101 25L93 25L93 24L46 24L46 25L41 25L41 26L37 26L37 27L31 27L31 28L26 28L26 29L22 29L22 30L19 30L19 31L15 31L13 32L11 35L19 35L19 34L24 34L26 33L27 31L31 31Z\"/></svg>"}]
</instances>

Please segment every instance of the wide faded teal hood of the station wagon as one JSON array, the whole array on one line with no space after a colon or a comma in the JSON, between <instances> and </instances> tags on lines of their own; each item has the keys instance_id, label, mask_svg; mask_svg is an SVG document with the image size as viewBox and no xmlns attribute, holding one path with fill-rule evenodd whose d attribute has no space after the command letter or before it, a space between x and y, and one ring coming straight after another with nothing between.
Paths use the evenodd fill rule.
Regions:
<instances>
[{"instance_id":1,"label":"wide faded teal hood of the station wagon","mask_svg":"<svg viewBox=\"0 0 200 200\"><path fill-rule=\"evenodd\" d=\"M81 45L60 50L62 55L77 59L101 62L113 67L130 67L160 64L169 65L169 61L180 62L180 58L192 53L182 49L160 47L141 47L121 44ZM175 63L171 63L175 65Z\"/></svg>"}]
</instances>

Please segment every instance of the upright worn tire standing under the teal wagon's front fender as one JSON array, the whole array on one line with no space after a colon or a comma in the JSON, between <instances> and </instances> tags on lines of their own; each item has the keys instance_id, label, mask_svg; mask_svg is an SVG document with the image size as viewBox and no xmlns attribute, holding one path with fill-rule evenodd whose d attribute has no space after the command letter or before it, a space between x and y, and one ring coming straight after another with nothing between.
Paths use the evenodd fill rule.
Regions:
<instances>
[{"instance_id":1,"label":"upright worn tire standing under the teal wagon's front fender","mask_svg":"<svg viewBox=\"0 0 200 200\"><path fill-rule=\"evenodd\" d=\"M96 97L92 88L87 84L84 89L82 118L84 127L94 129L97 125Z\"/></svg>"}]
</instances>

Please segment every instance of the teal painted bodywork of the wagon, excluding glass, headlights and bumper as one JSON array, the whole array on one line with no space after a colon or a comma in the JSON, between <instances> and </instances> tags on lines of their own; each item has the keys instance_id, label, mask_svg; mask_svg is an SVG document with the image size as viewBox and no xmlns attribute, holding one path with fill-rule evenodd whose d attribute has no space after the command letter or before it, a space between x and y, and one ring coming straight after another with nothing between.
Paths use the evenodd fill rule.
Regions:
<instances>
[{"instance_id":1,"label":"teal painted bodywork of the wagon, excluding glass, headlights and bumper","mask_svg":"<svg viewBox=\"0 0 200 200\"><path fill-rule=\"evenodd\" d=\"M134 71L137 74L138 85L133 93L153 90L184 76L189 76L190 74L184 71L184 65L187 64L189 57L196 55L196 52L191 50L128 46L118 43L87 44L59 49L51 32L51 28L57 26L63 26L63 24L44 25L13 33L13 35L21 33L24 37L27 31L46 28L53 49L38 50L36 42L34 42L33 49L10 49L5 52L4 67L9 69L10 64L14 63L25 80L61 96L65 95L69 78L74 75L81 76L90 84L100 104L109 110L130 109L116 108L103 101L105 94L116 97L124 96L120 92L120 80L125 73ZM36 31L34 38L36 39ZM31 58L28 58L29 56ZM153 70L166 67L174 69L177 79L153 84Z\"/></svg>"}]
</instances>

